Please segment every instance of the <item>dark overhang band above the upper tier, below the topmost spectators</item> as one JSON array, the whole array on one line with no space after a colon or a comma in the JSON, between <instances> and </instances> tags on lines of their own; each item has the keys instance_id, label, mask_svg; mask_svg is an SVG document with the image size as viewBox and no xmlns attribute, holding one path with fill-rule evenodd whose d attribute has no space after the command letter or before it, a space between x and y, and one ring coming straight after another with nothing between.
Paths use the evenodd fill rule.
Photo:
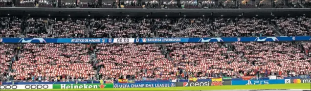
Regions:
<instances>
[{"instance_id":1,"label":"dark overhang band above the upper tier, below the topmost spectators","mask_svg":"<svg viewBox=\"0 0 311 91\"><path fill-rule=\"evenodd\" d=\"M243 13L244 12L244 13ZM242 15L243 13L243 15ZM0 16L32 17L271 17L311 16L311 9L94 9L94 8L0 8ZM50 16L48 16L50 15ZM213 16L212 16L213 15Z\"/></svg>"}]
</instances>

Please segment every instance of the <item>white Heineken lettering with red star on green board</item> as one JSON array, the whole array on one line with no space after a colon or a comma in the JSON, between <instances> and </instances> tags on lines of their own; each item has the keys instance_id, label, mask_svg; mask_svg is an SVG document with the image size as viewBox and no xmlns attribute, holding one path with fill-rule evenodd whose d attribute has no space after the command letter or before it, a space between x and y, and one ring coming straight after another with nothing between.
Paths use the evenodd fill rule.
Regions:
<instances>
[{"instance_id":1,"label":"white Heineken lettering with red star on green board","mask_svg":"<svg viewBox=\"0 0 311 91\"><path fill-rule=\"evenodd\" d=\"M93 84L61 84L61 89L103 89L106 85L93 85Z\"/></svg>"}]
</instances>

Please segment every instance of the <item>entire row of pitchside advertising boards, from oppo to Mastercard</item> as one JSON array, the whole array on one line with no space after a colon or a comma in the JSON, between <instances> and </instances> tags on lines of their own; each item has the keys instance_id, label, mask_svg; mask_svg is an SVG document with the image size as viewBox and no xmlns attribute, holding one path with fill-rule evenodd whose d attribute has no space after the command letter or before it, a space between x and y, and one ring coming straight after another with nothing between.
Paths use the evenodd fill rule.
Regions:
<instances>
[{"instance_id":1,"label":"entire row of pitchside advertising boards, from oppo to Mastercard","mask_svg":"<svg viewBox=\"0 0 311 91\"><path fill-rule=\"evenodd\" d=\"M187 81L168 83L109 83L96 84L18 84L0 85L0 90L31 90L31 89L104 89L104 88L157 88L157 87L198 87L224 85L267 85L267 84L300 84L311 83L311 79L275 79L275 80L232 80L211 79L209 81Z\"/></svg>"}]
</instances>

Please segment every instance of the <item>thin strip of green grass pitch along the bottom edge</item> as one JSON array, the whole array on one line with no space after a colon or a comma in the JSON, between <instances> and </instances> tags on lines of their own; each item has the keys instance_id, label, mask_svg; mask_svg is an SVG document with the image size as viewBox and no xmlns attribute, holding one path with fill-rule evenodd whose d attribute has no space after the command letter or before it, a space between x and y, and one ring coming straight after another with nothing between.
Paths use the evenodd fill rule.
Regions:
<instances>
[{"instance_id":1,"label":"thin strip of green grass pitch along the bottom edge","mask_svg":"<svg viewBox=\"0 0 311 91\"><path fill-rule=\"evenodd\" d=\"M305 83L305 84L274 84L274 85L166 87L166 88L116 88L116 89L52 89L52 90L49 89L49 90L40 90L40 91L199 91L199 90L258 90L258 89L308 89L310 90L311 84ZM21 90L1 90L1 91L21 91ZM31 91L36 91L36 90L31 90Z\"/></svg>"}]
</instances>

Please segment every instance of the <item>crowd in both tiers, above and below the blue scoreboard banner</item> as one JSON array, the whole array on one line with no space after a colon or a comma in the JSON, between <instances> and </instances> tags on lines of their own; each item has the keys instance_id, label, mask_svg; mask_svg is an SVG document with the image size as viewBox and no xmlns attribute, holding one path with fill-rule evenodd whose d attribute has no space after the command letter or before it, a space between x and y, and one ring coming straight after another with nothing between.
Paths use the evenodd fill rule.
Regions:
<instances>
[{"instance_id":1,"label":"crowd in both tiers, above and below the blue scoreboard banner","mask_svg":"<svg viewBox=\"0 0 311 91\"><path fill-rule=\"evenodd\" d=\"M150 38L310 36L310 18L1 17L0 37ZM275 24L271 24L275 23ZM276 28L275 28L276 27ZM0 44L8 80L211 78L310 74L310 42Z\"/></svg>"}]
</instances>

